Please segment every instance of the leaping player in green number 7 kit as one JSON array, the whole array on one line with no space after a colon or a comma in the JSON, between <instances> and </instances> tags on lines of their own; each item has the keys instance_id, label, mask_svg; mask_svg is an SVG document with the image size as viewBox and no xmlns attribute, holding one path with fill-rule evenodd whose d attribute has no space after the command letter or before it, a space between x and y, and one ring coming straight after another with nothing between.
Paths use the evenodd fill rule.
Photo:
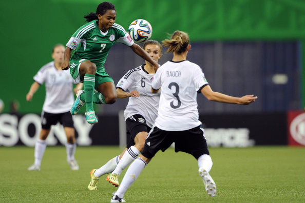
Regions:
<instances>
[{"instance_id":1,"label":"leaping player in green number 7 kit","mask_svg":"<svg viewBox=\"0 0 305 203\"><path fill-rule=\"evenodd\" d=\"M86 103L85 115L89 124L98 123L93 103L113 104L117 100L116 86L104 68L108 52L116 41L129 46L132 51L153 64L155 70L159 68L155 60L132 41L125 29L115 23L116 15L113 4L101 3L96 13L84 16L88 23L72 35L65 50L62 69L70 68L75 82L84 83L85 90L77 93L71 114L77 114ZM75 50L73 55L72 50ZM94 93L94 89L99 93Z\"/></svg>"}]
</instances>

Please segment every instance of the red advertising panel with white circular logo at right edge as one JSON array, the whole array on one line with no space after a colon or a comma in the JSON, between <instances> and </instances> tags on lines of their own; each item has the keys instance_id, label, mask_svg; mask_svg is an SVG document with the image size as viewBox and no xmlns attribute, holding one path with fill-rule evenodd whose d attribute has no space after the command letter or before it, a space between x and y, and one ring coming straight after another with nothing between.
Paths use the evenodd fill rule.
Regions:
<instances>
[{"instance_id":1,"label":"red advertising panel with white circular logo at right edge","mask_svg":"<svg viewBox=\"0 0 305 203\"><path fill-rule=\"evenodd\" d=\"M288 145L305 146L305 113L303 111L288 112Z\"/></svg>"}]
</instances>

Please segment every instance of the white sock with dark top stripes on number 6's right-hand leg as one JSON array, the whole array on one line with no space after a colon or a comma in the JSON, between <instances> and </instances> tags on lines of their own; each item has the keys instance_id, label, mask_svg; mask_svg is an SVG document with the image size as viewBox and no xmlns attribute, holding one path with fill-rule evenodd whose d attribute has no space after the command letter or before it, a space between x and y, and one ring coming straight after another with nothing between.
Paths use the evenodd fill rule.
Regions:
<instances>
[{"instance_id":1,"label":"white sock with dark top stripes on number 6's right-hand leg","mask_svg":"<svg viewBox=\"0 0 305 203\"><path fill-rule=\"evenodd\" d=\"M124 153L118 166L112 172L112 174L117 173L120 175L122 173L123 169L125 169L133 160L135 160L139 156L139 154L140 154L140 151L135 146L131 146Z\"/></svg>"}]
</instances>

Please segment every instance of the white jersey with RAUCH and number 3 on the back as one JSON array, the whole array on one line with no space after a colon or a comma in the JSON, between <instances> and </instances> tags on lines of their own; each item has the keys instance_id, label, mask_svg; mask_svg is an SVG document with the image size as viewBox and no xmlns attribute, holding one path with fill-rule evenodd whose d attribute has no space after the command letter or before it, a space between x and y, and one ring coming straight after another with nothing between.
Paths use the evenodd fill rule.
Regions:
<instances>
[{"instance_id":1,"label":"white jersey with RAUCH and number 3 on the back","mask_svg":"<svg viewBox=\"0 0 305 203\"><path fill-rule=\"evenodd\" d=\"M183 131L201 125L197 93L208 85L201 68L183 60L166 62L155 75L152 87L161 88L155 125L166 131Z\"/></svg>"}]
</instances>

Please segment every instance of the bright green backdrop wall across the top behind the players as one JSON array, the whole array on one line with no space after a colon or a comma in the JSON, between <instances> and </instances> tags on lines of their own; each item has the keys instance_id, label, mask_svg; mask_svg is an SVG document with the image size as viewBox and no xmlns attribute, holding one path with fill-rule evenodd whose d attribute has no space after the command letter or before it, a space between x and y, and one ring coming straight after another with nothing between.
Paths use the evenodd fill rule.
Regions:
<instances>
[{"instance_id":1,"label":"bright green backdrop wall across the top behind the players","mask_svg":"<svg viewBox=\"0 0 305 203\"><path fill-rule=\"evenodd\" d=\"M86 0L0 2L2 39L0 98L5 102L4 112L9 112L9 102L13 99L20 101L20 110L23 113L41 112L44 91L40 90L34 95L33 105L25 102L25 95L33 82L33 75L40 67L52 60L52 47L57 43L65 45L73 32L85 24L83 16L95 12L101 2ZM185 0L140 3L136 0L110 0L110 2L116 5L118 24L128 29L132 21L144 18L153 26L153 38L157 40L164 39L167 37L166 33L178 29L188 32L192 43L223 40L303 42L305 36L305 4L301 0L194 0L192 3ZM305 46L299 46L297 55L303 56L305 53L301 52L303 47ZM131 53L130 50L128 53ZM239 57L234 51L231 53L234 57ZM287 52L282 53L285 55ZM110 52L109 55L111 54L113 53ZM122 57L130 61L139 58L135 54ZM299 62L301 63L304 58L299 58ZM117 64L115 68L120 69L121 66L124 64ZM289 67L287 64L285 66ZM302 67L300 66L300 69ZM302 74L305 75L305 71ZM300 83L297 87L300 88L302 98L304 98L304 87L304 83ZM303 105L305 105L304 99Z\"/></svg>"}]
</instances>

